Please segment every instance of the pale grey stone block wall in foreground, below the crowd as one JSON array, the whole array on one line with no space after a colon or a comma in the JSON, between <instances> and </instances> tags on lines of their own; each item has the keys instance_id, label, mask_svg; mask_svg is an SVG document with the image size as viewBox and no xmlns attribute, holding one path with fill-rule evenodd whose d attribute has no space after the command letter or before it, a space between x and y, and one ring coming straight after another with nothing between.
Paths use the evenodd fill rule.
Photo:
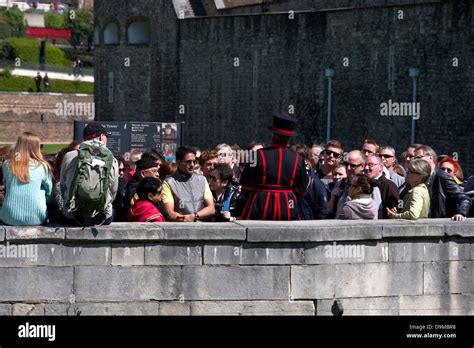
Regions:
<instances>
[{"instance_id":1,"label":"pale grey stone block wall in foreground, below the crowd","mask_svg":"<svg viewBox=\"0 0 474 348\"><path fill-rule=\"evenodd\" d=\"M4 226L37 258L0 257L0 314L474 315L473 242L472 219Z\"/></svg>"}]
</instances>

